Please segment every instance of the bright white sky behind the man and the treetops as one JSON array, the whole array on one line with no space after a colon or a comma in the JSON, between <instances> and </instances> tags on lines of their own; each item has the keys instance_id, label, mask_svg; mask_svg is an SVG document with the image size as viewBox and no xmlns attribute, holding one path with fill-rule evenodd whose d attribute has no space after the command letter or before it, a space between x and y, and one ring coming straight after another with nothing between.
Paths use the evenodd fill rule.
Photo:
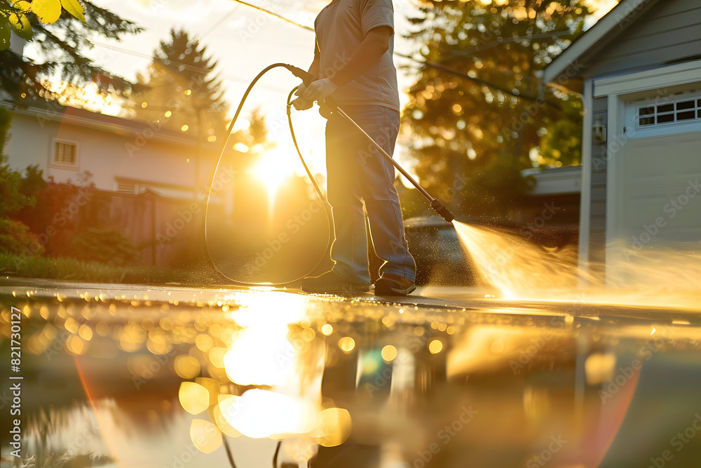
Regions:
<instances>
[{"instance_id":1,"label":"bright white sky behind the man and the treetops","mask_svg":"<svg viewBox=\"0 0 701 468\"><path fill-rule=\"evenodd\" d=\"M217 70L226 89L225 98L236 109L248 83L266 66L285 62L306 69L313 58L313 32L292 25L271 15L266 15L245 4L233 0L93 0L95 4L114 11L121 17L144 27L137 35L125 35L123 41L97 41L93 51L86 52L98 65L110 72L135 79L138 72L147 69L151 56L159 41L167 40L172 27L183 28L197 36L200 44L217 63ZM318 12L329 0L248 0L247 3L273 11L302 25L313 26ZM409 54L416 44L404 39L409 32L407 17L416 15L416 0L395 0L395 51ZM616 0L590 0L598 8L596 17L609 11ZM594 19L590 23L593 23ZM249 34L240 34L241 32ZM32 54L27 48L28 55ZM395 56L398 68L412 65L408 60ZM409 70L399 71L400 90L411 86L415 74ZM287 93L297 86L299 80L285 70L268 74L246 102L242 116L250 115L259 107L267 114L270 127L269 138L278 142L278 147L289 148L294 158L292 143L285 119ZM400 92L402 106L407 97ZM281 125L270 125L272 121ZM299 133L298 140L305 157L309 158L313 171L323 172L324 124L325 120L313 110L295 112L294 122ZM245 128L247 121L240 119L236 128ZM283 153L283 152L280 152ZM397 159L407 163L402 146L397 146ZM411 166L409 164L409 166Z\"/></svg>"}]
</instances>

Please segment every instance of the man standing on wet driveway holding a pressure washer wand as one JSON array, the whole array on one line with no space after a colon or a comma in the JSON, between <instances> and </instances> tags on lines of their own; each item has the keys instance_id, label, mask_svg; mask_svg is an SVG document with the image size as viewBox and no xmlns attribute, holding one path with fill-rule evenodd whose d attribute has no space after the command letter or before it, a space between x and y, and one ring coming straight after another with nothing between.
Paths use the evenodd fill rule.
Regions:
<instances>
[{"instance_id":1,"label":"man standing on wet driveway holding a pressure washer wand","mask_svg":"<svg viewBox=\"0 0 701 468\"><path fill-rule=\"evenodd\" d=\"M363 130L393 154L399 132L397 70L392 55L391 0L333 0L314 22L316 44L309 72L319 79L297 90L296 109L331 96ZM394 187L394 167L342 116L326 126L328 197L336 240L332 271L306 278L313 293L369 290L367 212L375 253L384 260L376 295L407 295L416 286L416 263L407 248L402 209Z\"/></svg>"}]
</instances>

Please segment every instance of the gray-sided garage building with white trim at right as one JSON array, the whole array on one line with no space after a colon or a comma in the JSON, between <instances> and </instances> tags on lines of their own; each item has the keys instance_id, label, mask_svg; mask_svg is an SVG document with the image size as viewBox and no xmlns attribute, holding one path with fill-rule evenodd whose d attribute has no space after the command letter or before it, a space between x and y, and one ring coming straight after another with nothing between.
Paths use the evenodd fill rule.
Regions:
<instances>
[{"instance_id":1,"label":"gray-sided garage building with white trim at right","mask_svg":"<svg viewBox=\"0 0 701 468\"><path fill-rule=\"evenodd\" d=\"M580 264L701 241L701 3L623 0L544 80L583 93Z\"/></svg>"}]
</instances>

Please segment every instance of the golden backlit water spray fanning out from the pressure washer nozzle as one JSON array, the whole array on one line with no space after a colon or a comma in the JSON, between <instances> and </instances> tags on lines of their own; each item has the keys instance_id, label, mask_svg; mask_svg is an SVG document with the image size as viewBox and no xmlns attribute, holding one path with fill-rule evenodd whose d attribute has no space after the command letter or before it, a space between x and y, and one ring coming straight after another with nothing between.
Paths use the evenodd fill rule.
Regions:
<instances>
[{"instance_id":1,"label":"golden backlit water spray fanning out from the pressure washer nozzle","mask_svg":"<svg viewBox=\"0 0 701 468\"><path fill-rule=\"evenodd\" d=\"M620 259L583 266L577 246L551 250L497 229L453 225L479 275L503 299L693 310L701 304L701 255L692 244L635 250L615 242Z\"/></svg>"}]
</instances>

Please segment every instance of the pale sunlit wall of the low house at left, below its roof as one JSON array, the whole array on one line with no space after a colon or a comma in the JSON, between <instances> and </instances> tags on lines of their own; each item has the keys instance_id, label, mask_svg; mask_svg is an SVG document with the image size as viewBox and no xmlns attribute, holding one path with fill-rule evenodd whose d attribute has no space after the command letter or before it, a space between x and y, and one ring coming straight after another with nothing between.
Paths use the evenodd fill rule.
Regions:
<instances>
[{"instance_id":1,"label":"pale sunlit wall of the low house at left, below its roof","mask_svg":"<svg viewBox=\"0 0 701 468\"><path fill-rule=\"evenodd\" d=\"M97 189L114 191L125 180L141 182L164 196L191 199L198 175L197 187L203 190L218 156L212 147L198 152L196 145L157 139L154 131L147 133L150 128L145 128L144 135L152 138L15 112L6 154L11 167L23 171L36 164L44 177L56 182L76 182L78 173L90 171ZM79 145L75 167L52 163L56 139Z\"/></svg>"}]
</instances>

